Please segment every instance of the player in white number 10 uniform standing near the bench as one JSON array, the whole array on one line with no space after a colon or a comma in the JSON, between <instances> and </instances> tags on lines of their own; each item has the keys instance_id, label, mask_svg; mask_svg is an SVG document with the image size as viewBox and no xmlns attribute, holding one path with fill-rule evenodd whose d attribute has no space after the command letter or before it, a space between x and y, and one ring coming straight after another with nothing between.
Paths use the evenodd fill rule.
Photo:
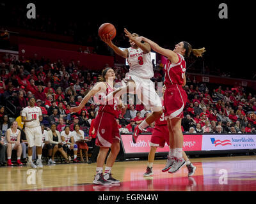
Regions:
<instances>
[{"instance_id":1,"label":"player in white number 10 uniform standing near the bench","mask_svg":"<svg viewBox=\"0 0 256 204\"><path fill-rule=\"evenodd\" d=\"M29 98L29 106L22 111L22 122L26 122L26 138L28 140L28 164L32 168L36 165L32 161L32 147L36 146L36 154L38 159L36 161L37 167L42 168L42 129L40 127L40 117L42 117L41 108L35 106L35 98ZM25 119L26 118L26 119Z\"/></svg>"}]
</instances>

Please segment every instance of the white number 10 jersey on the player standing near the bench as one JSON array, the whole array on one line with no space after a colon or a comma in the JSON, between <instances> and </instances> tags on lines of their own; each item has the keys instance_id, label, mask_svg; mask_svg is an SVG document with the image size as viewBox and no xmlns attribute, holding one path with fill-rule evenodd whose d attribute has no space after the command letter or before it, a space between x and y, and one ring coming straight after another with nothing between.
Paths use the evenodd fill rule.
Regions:
<instances>
[{"instance_id":1,"label":"white number 10 jersey on the player standing near the bench","mask_svg":"<svg viewBox=\"0 0 256 204\"><path fill-rule=\"evenodd\" d=\"M22 116L26 117L27 120L35 119L31 122L26 122L26 128L36 128L40 126L39 115L42 115L42 110L37 106L34 106L33 108L29 106L24 108L22 111Z\"/></svg>"}]
</instances>

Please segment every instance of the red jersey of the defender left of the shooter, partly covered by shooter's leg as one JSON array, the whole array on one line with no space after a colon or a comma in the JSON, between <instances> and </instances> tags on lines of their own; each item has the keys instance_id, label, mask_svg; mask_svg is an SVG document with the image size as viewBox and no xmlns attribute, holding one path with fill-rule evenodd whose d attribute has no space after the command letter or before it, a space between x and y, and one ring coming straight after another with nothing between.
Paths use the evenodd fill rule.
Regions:
<instances>
[{"instance_id":1,"label":"red jersey of the defender left of the shooter, partly covered by shooter's leg","mask_svg":"<svg viewBox=\"0 0 256 204\"><path fill-rule=\"evenodd\" d=\"M111 88L111 86L106 82L107 89L106 89L106 96L114 91L114 89ZM119 110L117 108L118 105L118 99L114 98L113 101L108 101L106 105L102 105L99 108L99 112L107 112L112 115L115 115L116 118L118 118Z\"/></svg>"}]
</instances>

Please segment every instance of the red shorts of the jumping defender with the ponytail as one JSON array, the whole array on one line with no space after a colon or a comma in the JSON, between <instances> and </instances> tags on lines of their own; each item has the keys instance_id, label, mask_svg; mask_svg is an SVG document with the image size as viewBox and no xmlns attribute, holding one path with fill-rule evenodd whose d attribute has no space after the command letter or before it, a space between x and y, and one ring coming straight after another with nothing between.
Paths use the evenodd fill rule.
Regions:
<instances>
[{"instance_id":1,"label":"red shorts of the jumping defender with the ponytail","mask_svg":"<svg viewBox=\"0 0 256 204\"><path fill-rule=\"evenodd\" d=\"M174 117L182 119L187 99L188 96L181 85L173 84L171 87L166 87L164 92L165 119L173 119Z\"/></svg>"}]
</instances>

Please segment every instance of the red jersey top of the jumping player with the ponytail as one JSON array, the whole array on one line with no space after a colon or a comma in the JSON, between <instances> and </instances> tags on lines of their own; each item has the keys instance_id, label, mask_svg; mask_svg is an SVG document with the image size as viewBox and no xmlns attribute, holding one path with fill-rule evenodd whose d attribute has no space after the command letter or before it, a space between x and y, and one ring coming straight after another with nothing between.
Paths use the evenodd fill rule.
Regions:
<instances>
[{"instance_id":1,"label":"red jersey top of the jumping player with the ponytail","mask_svg":"<svg viewBox=\"0 0 256 204\"><path fill-rule=\"evenodd\" d=\"M186 71L186 61L182 55L179 53L177 53L177 55L179 57L179 62L174 64L168 60L164 67L164 84L166 85L166 88L172 86L173 84L183 84L184 73Z\"/></svg>"}]
</instances>

